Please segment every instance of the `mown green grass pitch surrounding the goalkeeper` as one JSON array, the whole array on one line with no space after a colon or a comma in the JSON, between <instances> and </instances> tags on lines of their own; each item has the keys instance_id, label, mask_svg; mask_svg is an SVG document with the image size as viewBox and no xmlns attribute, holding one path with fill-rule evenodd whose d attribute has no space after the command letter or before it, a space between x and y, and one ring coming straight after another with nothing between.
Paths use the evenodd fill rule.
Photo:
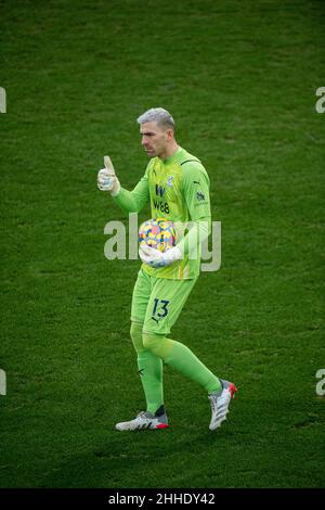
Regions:
<instances>
[{"instance_id":1,"label":"mown green grass pitch surrounding the goalkeeper","mask_svg":"<svg viewBox=\"0 0 325 510\"><path fill-rule=\"evenodd\" d=\"M1 487L324 487L325 12L321 1L0 2ZM139 262L104 257L127 220L135 118L164 106L211 179L222 265L172 331L238 393L209 401L166 367L170 429L143 408L129 340ZM148 218L148 211L140 219Z\"/></svg>"}]
</instances>

